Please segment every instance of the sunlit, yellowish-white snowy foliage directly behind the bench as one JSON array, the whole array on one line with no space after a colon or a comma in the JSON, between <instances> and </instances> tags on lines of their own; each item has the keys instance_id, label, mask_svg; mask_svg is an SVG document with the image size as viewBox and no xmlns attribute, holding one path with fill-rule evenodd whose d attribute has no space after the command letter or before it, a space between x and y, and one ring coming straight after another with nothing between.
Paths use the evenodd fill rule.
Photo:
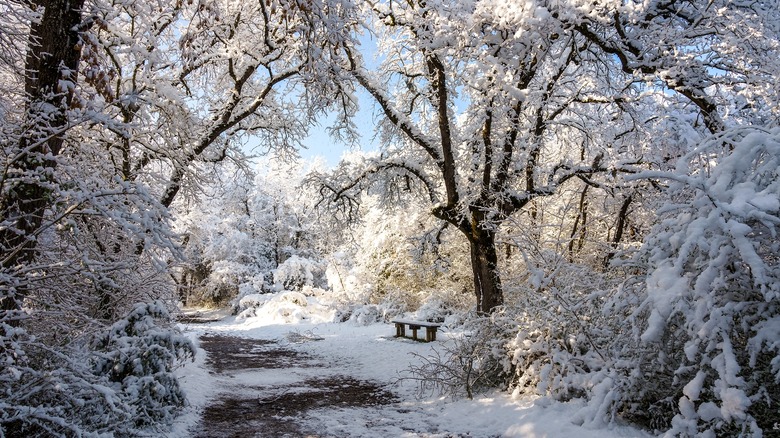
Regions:
<instances>
[{"instance_id":1,"label":"sunlit, yellowish-white snowy foliage directly behind the bench","mask_svg":"<svg viewBox=\"0 0 780 438\"><path fill-rule=\"evenodd\" d=\"M348 240L327 258L335 295L379 305L385 314L423 310L425 319L468 309L472 280L459 236L438 227L416 202L389 209L380 196L367 196L362 208L344 233Z\"/></svg>"}]
</instances>

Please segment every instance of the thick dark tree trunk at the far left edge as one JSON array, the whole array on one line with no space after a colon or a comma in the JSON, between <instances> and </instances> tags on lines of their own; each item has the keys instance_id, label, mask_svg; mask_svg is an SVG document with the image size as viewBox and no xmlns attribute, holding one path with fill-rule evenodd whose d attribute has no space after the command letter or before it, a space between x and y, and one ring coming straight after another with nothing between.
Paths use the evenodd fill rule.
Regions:
<instances>
[{"instance_id":1,"label":"thick dark tree trunk at the far left edge","mask_svg":"<svg viewBox=\"0 0 780 438\"><path fill-rule=\"evenodd\" d=\"M78 63L81 8L84 0L38 0L43 15L30 28L25 60L26 123L17 159L11 163L7 188L0 199L0 257L4 269L28 265L36 258L35 233L51 203L51 178L64 142L67 110L73 97ZM23 288L0 297L0 311L20 308Z\"/></svg>"}]
</instances>

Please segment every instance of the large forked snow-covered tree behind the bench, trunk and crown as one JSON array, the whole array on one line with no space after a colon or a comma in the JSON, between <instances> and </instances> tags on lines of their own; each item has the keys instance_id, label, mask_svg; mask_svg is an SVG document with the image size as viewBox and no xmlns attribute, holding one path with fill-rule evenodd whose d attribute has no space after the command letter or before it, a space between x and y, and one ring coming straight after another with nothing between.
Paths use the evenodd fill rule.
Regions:
<instances>
[{"instance_id":1,"label":"large forked snow-covered tree behind the bench, trunk and crown","mask_svg":"<svg viewBox=\"0 0 780 438\"><path fill-rule=\"evenodd\" d=\"M421 187L433 215L468 240L477 309L489 312L504 302L501 226L625 164L636 133L620 101L638 92L620 71L604 73L608 57L566 24L576 14L566 4L369 3L382 64L348 56L384 116L384 149L323 185L342 203L377 181Z\"/></svg>"}]
</instances>

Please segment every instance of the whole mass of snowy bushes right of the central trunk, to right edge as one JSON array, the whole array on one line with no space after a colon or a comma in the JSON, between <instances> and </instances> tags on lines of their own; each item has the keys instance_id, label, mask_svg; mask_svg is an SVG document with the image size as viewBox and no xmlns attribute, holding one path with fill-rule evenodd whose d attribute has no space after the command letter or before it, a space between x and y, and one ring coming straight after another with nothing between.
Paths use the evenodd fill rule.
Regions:
<instances>
[{"instance_id":1,"label":"whole mass of snowy bushes right of the central trunk, to right edge","mask_svg":"<svg viewBox=\"0 0 780 438\"><path fill-rule=\"evenodd\" d=\"M623 417L669 436L771 430L779 135L729 130L673 170L636 175L669 187L630 262L597 273L526 252L505 310L519 326L505 345L514 393L586 397L576 421L593 427Z\"/></svg>"}]
</instances>

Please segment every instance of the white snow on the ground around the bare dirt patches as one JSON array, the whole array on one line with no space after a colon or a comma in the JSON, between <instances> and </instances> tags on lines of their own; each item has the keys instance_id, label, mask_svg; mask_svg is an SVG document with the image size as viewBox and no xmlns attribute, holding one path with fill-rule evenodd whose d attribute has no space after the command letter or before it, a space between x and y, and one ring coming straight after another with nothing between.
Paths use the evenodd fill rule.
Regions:
<instances>
[{"instance_id":1,"label":"white snow on the ground around the bare dirt patches","mask_svg":"<svg viewBox=\"0 0 780 438\"><path fill-rule=\"evenodd\" d=\"M272 312L273 313L273 312ZM226 391L247 391L258 399L273 398L273 391L287 385L285 391L305 391L296 386L312 376L323 374L348 376L386 384L398 397L390 405L354 408L321 408L309 411L307 422L320 436L334 437L647 437L629 426L612 425L607 429L588 429L577 424L581 401L554 402L546 398L512 399L509 394L494 392L474 400L453 400L430 395L418 398L414 381L398 378L410 363L419 358L412 353L429 355L434 348L451 342L454 333L440 331L439 340L421 343L394 338L392 324L358 325L353 322L310 322L295 318L293 323L279 323L278 315L237 319L225 317L209 324L187 324L182 327L193 340L204 334L275 340L285 348L316 357L327 365L313 368L252 370L222 377L205 368L204 352L196 361L179 370L191 408L175 425L173 436L191 436L197 430L199 413ZM300 316L300 313L298 313ZM306 316L306 315L304 315ZM316 320L316 319L315 319ZM271 393L263 393L268 389ZM240 421L240 419L237 419ZM258 431L258 436L263 435Z\"/></svg>"}]
</instances>

